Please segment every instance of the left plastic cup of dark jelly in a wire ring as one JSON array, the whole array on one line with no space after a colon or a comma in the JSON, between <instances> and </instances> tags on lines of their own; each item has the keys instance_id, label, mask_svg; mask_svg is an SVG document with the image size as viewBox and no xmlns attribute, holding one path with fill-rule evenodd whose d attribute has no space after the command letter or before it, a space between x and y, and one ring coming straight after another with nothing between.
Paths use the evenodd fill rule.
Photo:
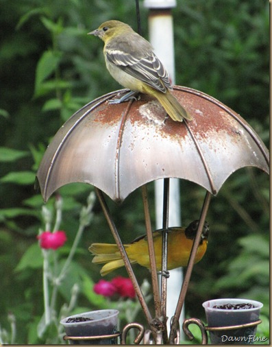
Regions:
<instances>
[{"instance_id":1,"label":"left plastic cup of dark jelly in a wire ring","mask_svg":"<svg viewBox=\"0 0 272 347\"><path fill-rule=\"evenodd\" d=\"M71 344L117 344L117 337L103 338L103 335L112 335L117 331L119 311L100 310L71 315L60 321L65 328L67 339L69 337L94 337L97 339L69 339ZM69 318L90 318L86 322L67 322Z\"/></svg>"}]
</instances>

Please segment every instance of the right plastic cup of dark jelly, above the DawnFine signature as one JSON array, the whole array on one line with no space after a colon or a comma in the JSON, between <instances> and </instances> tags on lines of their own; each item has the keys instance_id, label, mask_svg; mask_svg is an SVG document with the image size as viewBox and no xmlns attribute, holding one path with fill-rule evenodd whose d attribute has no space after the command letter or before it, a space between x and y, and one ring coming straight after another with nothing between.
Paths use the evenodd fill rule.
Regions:
<instances>
[{"instance_id":1,"label":"right plastic cup of dark jelly, above the DawnFine signature","mask_svg":"<svg viewBox=\"0 0 272 347\"><path fill-rule=\"evenodd\" d=\"M215 309L214 305L252 304L252 309ZM254 323L259 319L263 304L247 299L216 299L203 302L206 320L210 331L211 344L253 344L256 342L257 325L241 326ZM234 329L224 329L227 326L239 326ZM222 327L220 330L212 328ZM210 330L211 328L211 330Z\"/></svg>"}]
</instances>

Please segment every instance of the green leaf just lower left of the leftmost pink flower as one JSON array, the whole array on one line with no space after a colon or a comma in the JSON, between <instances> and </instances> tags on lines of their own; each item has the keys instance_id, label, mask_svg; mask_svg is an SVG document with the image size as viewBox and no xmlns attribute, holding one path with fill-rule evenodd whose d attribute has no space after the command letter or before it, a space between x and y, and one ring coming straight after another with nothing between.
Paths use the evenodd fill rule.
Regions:
<instances>
[{"instance_id":1,"label":"green leaf just lower left of the leftmost pink flower","mask_svg":"<svg viewBox=\"0 0 272 347\"><path fill-rule=\"evenodd\" d=\"M25 270L27 268L38 269L42 267L43 259L38 241L27 248L21 260L15 268L15 272Z\"/></svg>"}]
</instances>

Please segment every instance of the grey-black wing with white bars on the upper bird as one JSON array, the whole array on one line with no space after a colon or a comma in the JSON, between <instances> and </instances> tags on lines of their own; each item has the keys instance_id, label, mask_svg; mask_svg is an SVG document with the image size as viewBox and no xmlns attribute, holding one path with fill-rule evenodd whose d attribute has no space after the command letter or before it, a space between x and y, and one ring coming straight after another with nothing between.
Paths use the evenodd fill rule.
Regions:
<instances>
[{"instance_id":1,"label":"grey-black wing with white bars on the upper bird","mask_svg":"<svg viewBox=\"0 0 272 347\"><path fill-rule=\"evenodd\" d=\"M162 62L153 53L151 45L140 36L138 39L133 36L125 37L118 43L113 41L108 44L106 57L112 64L120 67L129 75L162 93L171 89L169 75Z\"/></svg>"}]
</instances>

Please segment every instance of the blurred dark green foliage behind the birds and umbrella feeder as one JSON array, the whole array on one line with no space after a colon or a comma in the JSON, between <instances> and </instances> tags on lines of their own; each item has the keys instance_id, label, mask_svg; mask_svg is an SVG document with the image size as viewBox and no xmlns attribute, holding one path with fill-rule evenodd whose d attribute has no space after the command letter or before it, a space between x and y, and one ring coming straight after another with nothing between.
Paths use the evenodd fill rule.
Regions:
<instances>
[{"instance_id":1,"label":"blurred dark green foliage behind the birds and umbrella feeder","mask_svg":"<svg viewBox=\"0 0 272 347\"><path fill-rule=\"evenodd\" d=\"M140 10L147 38L148 10L142 1ZM269 146L268 1L179 0L173 16L177 84L222 101L244 117ZM8 329L8 313L16 316L16 343L37 343L36 322L42 315L42 259L35 246L43 204L34 190L38 164L55 132L73 112L120 88L106 73L101 41L86 35L108 19L129 19L136 29L134 1L0 0L0 324ZM58 192L64 199L61 228L69 237L67 248L91 190L84 184L70 184ZM153 194L153 184L149 192ZM204 194L195 184L181 182L184 225L199 216ZM51 198L47 206L53 208L53 203ZM108 203L125 242L143 234L138 191L121 206ZM90 293L92 283L100 278L90 262L88 246L99 241L101 232L104 241L112 241L98 202L93 212L70 279L63 283L58 299L59 304L69 300L68 289L76 282L78 307L88 310L99 307ZM258 331L267 335L268 176L252 167L236 171L212 199L207 219L209 247L195 266L186 315L204 319L201 302L208 298L260 300L264 323ZM23 263L25 252L28 258ZM140 280L149 278L147 270L135 270ZM125 276L125 270L119 273Z\"/></svg>"}]
</instances>

